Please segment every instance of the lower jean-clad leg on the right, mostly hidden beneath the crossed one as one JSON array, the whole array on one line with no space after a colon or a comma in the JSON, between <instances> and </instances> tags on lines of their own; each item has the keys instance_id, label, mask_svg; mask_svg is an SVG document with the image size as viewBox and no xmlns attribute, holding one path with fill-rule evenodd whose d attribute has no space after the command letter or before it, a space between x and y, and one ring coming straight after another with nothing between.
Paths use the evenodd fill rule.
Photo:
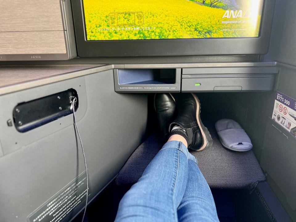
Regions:
<instances>
[{"instance_id":1,"label":"lower jean-clad leg on the right, mostly hidden beneath the crossed one","mask_svg":"<svg viewBox=\"0 0 296 222\"><path fill-rule=\"evenodd\" d=\"M219 221L212 192L203 174L190 154L185 193L178 207L179 222Z\"/></svg>"}]
</instances>

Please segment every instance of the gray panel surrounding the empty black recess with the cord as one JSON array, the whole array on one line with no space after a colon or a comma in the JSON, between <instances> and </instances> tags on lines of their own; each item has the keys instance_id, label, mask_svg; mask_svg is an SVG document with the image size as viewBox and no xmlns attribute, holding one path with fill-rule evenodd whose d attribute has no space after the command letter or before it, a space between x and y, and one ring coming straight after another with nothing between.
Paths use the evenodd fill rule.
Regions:
<instances>
[{"instance_id":1,"label":"gray panel surrounding the empty black recess with the cord","mask_svg":"<svg viewBox=\"0 0 296 222\"><path fill-rule=\"evenodd\" d=\"M68 81L61 81L37 88L31 88L20 92L6 94L0 97L0 104L5 104L0 106L1 118L3 119L0 121L0 141L4 155L73 124L73 117L70 115L39 126L26 133L18 132L14 125L10 127L7 125L7 120L13 120L12 111L17 104L62 92L69 88L74 88L78 93L80 106L76 112L76 118L77 121L79 121L84 117L87 110L87 97L84 77Z\"/></svg>"}]
</instances>

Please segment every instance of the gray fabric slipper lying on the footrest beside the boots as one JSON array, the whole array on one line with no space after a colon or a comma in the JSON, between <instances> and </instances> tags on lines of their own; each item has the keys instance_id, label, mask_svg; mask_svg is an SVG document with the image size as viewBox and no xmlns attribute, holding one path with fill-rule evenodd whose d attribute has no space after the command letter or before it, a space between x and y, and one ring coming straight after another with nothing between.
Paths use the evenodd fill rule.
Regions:
<instances>
[{"instance_id":1,"label":"gray fabric slipper lying on the footrest beside the boots","mask_svg":"<svg viewBox=\"0 0 296 222\"><path fill-rule=\"evenodd\" d=\"M248 151L253 148L252 142L236 121L221 119L215 124L222 145L234 151Z\"/></svg>"}]
</instances>

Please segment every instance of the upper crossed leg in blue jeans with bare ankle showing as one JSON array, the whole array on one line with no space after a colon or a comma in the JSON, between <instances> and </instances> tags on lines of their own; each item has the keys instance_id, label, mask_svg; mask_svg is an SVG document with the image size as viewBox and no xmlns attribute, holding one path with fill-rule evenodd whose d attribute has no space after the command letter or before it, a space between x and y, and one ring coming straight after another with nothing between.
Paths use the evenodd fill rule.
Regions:
<instances>
[{"instance_id":1,"label":"upper crossed leg in blue jeans with bare ankle showing","mask_svg":"<svg viewBox=\"0 0 296 222\"><path fill-rule=\"evenodd\" d=\"M121 199L116 222L178 221L177 208L186 188L189 156L181 141L182 136L172 135L156 154L139 181Z\"/></svg>"}]
</instances>

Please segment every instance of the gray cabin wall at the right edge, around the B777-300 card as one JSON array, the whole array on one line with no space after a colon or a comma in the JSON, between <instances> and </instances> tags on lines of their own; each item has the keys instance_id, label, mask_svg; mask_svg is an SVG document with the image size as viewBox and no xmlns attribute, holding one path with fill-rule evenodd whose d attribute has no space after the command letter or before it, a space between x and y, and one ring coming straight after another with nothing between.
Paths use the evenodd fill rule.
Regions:
<instances>
[{"instance_id":1,"label":"gray cabin wall at the right edge, around the B777-300 card","mask_svg":"<svg viewBox=\"0 0 296 222\"><path fill-rule=\"evenodd\" d=\"M269 53L265 60L276 60L279 66L277 90L296 98L296 1L277 1L273 18L273 30ZM270 101L274 100L270 95ZM273 104L273 103L272 103ZM272 107L269 108L269 117ZM266 125L261 166L266 172L267 182L283 204L293 221L296 221L296 139L282 136ZM281 128L279 128L281 129ZM285 130L283 130L285 132ZM273 132L271 135L269 132ZM271 142L272 141L272 142Z\"/></svg>"}]
</instances>

